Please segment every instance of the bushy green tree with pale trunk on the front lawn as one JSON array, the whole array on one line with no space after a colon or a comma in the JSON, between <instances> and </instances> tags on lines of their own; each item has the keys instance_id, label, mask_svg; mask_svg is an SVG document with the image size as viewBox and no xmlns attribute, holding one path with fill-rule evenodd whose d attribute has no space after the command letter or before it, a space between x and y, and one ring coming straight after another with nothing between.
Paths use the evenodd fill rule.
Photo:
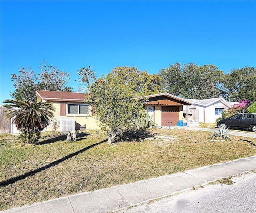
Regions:
<instances>
[{"instance_id":1,"label":"bushy green tree with pale trunk on the front lawn","mask_svg":"<svg viewBox=\"0 0 256 213\"><path fill-rule=\"evenodd\" d=\"M134 98L134 90L129 84L119 84L112 75L96 80L90 87L89 103L103 131L108 136L108 144L114 137L134 128L134 121L140 115L143 104Z\"/></svg>"}]
</instances>

